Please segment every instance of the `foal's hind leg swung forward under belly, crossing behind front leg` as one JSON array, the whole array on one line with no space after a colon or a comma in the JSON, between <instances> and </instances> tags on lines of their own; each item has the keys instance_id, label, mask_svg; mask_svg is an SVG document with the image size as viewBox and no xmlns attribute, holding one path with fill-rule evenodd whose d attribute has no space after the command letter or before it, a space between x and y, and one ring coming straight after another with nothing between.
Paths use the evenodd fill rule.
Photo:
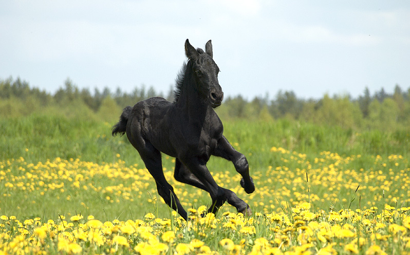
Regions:
<instances>
[{"instance_id":1,"label":"foal's hind leg swung forward under belly, crossing behind front leg","mask_svg":"<svg viewBox=\"0 0 410 255\"><path fill-rule=\"evenodd\" d=\"M175 177L176 180L180 181L181 183L189 184L189 185L195 186L197 188L200 188L202 190L208 191L207 188L203 185L203 183L187 167L185 167L185 165L183 165L181 163L181 161L179 161L178 158L175 159L174 177ZM241 212L244 215L251 215L252 214L252 211L249 208L248 204L245 203L239 197L237 197L237 195L233 191L231 191L229 189L224 189L224 188L221 188L221 189L223 191L225 191L225 196L226 196L227 202L230 205L236 207L238 212ZM225 200L221 199L221 201L225 201ZM219 204L220 203L215 203L215 205L219 205ZM218 208L220 206L221 205L219 205ZM215 206L214 206L214 208L211 207L209 209L209 211L213 212L213 210L215 210L215 209L217 209L217 208L215 208Z\"/></svg>"}]
</instances>

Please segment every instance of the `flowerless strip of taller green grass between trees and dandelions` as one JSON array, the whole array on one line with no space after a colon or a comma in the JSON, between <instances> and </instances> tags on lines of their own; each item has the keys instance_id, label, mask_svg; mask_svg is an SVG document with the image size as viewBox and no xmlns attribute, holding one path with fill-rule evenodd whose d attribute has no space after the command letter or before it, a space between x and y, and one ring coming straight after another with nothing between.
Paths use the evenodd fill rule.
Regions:
<instances>
[{"instance_id":1,"label":"flowerless strip of taller green grass between trees and dandelions","mask_svg":"<svg viewBox=\"0 0 410 255\"><path fill-rule=\"evenodd\" d=\"M141 164L137 151L129 144L126 136L111 136L111 127L115 122L67 119L58 115L3 118L0 124L5 139L0 141L0 158L24 157L29 162L38 162L60 157L114 162L119 153L126 165ZM237 144L234 147L248 157L251 168L255 170L275 164L269 153L273 146L305 153L309 158L314 158L322 151L347 156L408 156L410 153L408 130L391 133L377 130L356 132L338 126L318 126L289 120L269 123L236 120L225 122L224 128L224 135L232 144ZM212 167L227 167L222 163L225 160L217 160L215 165L212 161Z\"/></svg>"}]
</instances>

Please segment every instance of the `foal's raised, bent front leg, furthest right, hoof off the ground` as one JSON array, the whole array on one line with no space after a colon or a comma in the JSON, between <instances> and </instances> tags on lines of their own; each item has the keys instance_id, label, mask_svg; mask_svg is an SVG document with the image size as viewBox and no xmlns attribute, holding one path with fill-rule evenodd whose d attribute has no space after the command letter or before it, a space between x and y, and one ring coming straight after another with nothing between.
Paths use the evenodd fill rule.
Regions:
<instances>
[{"instance_id":1,"label":"foal's raised, bent front leg, furthest right, hoof off the ground","mask_svg":"<svg viewBox=\"0 0 410 255\"><path fill-rule=\"evenodd\" d=\"M222 136L216 145L213 155L225 158L232 161L235 166L236 171L242 175L240 180L240 186L245 189L246 193L252 193L255 191L255 185L253 184L253 179L249 175L249 165L248 160L244 154L236 151L232 145L229 143L225 136Z\"/></svg>"}]
</instances>

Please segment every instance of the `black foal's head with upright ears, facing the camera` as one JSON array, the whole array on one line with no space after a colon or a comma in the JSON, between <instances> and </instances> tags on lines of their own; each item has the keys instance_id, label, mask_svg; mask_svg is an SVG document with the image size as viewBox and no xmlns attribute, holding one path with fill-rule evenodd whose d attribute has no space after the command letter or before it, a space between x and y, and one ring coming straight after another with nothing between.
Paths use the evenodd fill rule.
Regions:
<instances>
[{"instance_id":1,"label":"black foal's head with upright ears, facing the camera","mask_svg":"<svg viewBox=\"0 0 410 255\"><path fill-rule=\"evenodd\" d=\"M205 45L205 52L195 49L190 42L185 41L185 54L192 63L193 76L200 96L208 100L212 107L222 103L223 92L218 82L219 67L212 59L211 40Z\"/></svg>"}]
</instances>

